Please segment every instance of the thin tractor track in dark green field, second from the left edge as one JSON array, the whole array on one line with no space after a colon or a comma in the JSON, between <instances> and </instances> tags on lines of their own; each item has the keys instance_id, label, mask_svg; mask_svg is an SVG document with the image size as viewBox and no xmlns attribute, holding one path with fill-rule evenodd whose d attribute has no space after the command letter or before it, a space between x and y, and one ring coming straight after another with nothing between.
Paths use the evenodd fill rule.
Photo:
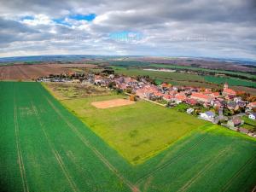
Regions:
<instances>
[{"instance_id":1,"label":"thin tractor track in dark green field, second from the left edge","mask_svg":"<svg viewBox=\"0 0 256 192\"><path fill-rule=\"evenodd\" d=\"M49 148L51 149L52 153L55 155L55 159L57 160L59 166L61 167L62 172L64 173L65 177L67 178L67 181L70 184L70 187L75 192L79 191L79 189L77 188L76 184L74 183L72 177L70 176L69 172L67 171L67 168L66 168L63 160L61 159L61 155L55 150L53 144L50 142L49 136L48 136L47 132L44 129L44 123L42 122L42 119L40 118L40 115L38 113L38 109L35 107L33 102L31 102L31 104L32 104L32 110L36 114L38 122L40 124L40 127L41 127L42 131L44 132L44 137L46 138L46 141L47 141L47 143L49 145Z\"/></svg>"}]
</instances>

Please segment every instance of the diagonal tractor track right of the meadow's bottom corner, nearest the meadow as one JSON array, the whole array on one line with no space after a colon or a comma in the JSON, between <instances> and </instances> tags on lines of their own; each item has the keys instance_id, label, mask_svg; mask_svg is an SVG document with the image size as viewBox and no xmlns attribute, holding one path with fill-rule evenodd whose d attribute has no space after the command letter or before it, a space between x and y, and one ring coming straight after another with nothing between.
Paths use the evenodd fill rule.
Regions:
<instances>
[{"instance_id":1,"label":"diagonal tractor track right of the meadow's bottom corner, nearest the meadow","mask_svg":"<svg viewBox=\"0 0 256 192\"><path fill-rule=\"evenodd\" d=\"M199 146L199 144L201 142L203 142L207 137L207 133L204 137L202 137L198 142L196 142L194 145L192 145L190 148L188 148L187 150L185 150L182 154L177 155L175 158L173 158L172 160L167 161L166 163L162 164L161 166L158 166L157 168L155 168L153 171L148 172L147 174L145 174L143 177L139 177L137 180L136 184L142 183L144 179L147 179L148 177L151 177L154 175L155 172L159 172L160 170L162 170L163 168L165 168L166 166L169 166L170 164L176 162L177 160L179 160L180 158L182 158L183 156L185 156L189 151L197 148Z\"/></svg>"}]
</instances>

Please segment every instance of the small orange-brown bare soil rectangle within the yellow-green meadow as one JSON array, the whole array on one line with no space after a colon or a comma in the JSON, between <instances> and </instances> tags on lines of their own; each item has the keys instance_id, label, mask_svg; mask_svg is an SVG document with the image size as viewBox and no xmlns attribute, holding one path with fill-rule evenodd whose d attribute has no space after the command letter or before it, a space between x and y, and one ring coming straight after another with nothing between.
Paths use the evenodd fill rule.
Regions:
<instances>
[{"instance_id":1,"label":"small orange-brown bare soil rectangle within the yellow-green meadow","mask_svg":"<svg viewBox=\"0 0 256 192\"><path fill-rule=\"evenodd\" d=\"M119 106L131 105L135 102L126 99L113 99L103 102L91 102L91 104L96 108L115 108Z\"/></svg>"}]
</instances>

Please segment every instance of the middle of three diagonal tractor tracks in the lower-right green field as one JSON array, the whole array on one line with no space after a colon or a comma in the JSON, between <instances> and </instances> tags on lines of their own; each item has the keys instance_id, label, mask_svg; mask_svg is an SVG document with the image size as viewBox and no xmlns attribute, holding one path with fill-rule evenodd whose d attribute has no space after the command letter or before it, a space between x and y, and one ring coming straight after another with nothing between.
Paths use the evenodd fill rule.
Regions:
<instances>
[{"instance_id":1,"label":"middle of three diagonal tractor tracks in the lower-right green field","mask_svg":"<svg viewBox=\"0 0 256 192\"><path fill-rule=\"evenodd\" d=\"M210 168L216 163L216 161L219 160L219 158L221 158L221 157L224 155L224 153L225 153L227 150L229 150L230 148L231 148L231 146L224 148L224 150L222 150L222 151L212 160L212 162L210 162L210 163L208 163L206 166L204 166L203 169L201 169L200 172L197 172L197 173L195 174L195 177L192 177L191 179L189 179L189 181L188 181L187 183L185 183L185 184L183 185L183 187L182 187L181 189L178 189L177 191L178 191L178 192L179 192L179 191L183 192L183 191L185 191L186 189L188 189L188 188L191 186L191 184L195 183L195 181L196 181L199 177L201 177L201 175L203 175L208 169L210 169Z\"/></svg>"}]
</instances>

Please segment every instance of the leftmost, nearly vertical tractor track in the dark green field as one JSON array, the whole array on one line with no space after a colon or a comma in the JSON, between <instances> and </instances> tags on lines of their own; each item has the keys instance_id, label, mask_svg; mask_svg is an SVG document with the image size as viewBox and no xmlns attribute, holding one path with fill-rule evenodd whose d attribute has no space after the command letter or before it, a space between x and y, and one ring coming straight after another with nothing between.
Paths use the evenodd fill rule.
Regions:
<instances>
[{"instance_id":1,"label":"leftmost, nearly vertical tractor track in the dark green field","mask_svg":"<svg viewBox=\"0 0 256 192\"><path fill-rule=\"evenodd\" d=\"M20 138L19 138L19 125L18 125L18 118L17 118L17 108L16 108L16 100L14 96L14 121L15 121L15 141L16 141L16 148L17 148L17 155L18 155L18 164L20 168L20 177L22 181L23 191L29 192L29 187L26 181L26 171L23 162L22 152L20 148Z\"/></svg>"}]
</instances>

